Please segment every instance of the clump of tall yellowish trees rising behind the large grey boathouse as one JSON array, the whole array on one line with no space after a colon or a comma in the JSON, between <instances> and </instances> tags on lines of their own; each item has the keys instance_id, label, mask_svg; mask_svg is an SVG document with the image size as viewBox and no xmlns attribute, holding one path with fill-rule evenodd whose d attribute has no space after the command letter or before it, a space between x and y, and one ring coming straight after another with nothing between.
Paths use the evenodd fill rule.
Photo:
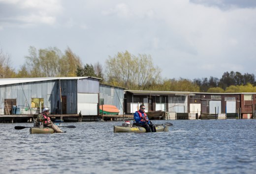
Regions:
<instances>
[{"instance_id":1,"label":"clump of tall yellowish trees rising behind the large grey boathouse","mask_svg":"<svg viewBox=\"0 0 256 174\"><path fill-rule=\"evenodd\" d=\"M68 47L65 55L56 47L36 50L30 46L29 56L18 72L19 76L27 77L74 77L76 67L81 66L81 60Z\"/></svg>"}]
</instances>

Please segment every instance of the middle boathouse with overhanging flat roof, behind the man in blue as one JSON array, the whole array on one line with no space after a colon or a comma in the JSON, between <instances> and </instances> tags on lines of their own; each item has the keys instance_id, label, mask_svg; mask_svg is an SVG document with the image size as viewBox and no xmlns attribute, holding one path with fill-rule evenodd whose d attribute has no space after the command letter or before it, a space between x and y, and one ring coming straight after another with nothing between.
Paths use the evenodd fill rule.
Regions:
<instances>
[{"instance_id":1,"label":"middle boathouse with overhanging flat roof, behind the man in blue","mask_svg":"<svg viewBox=\"0 0 256 174\"><path fill-rule=\"evenodd\" d=\"M144 104L145 112L153 118L164 117L163 113L174 119L177 114L183 118L189 117L188 96L193 95L191 92L125 90L125 111L133 114L138 111L139 105Z\"/></svg>"}]
</instances>

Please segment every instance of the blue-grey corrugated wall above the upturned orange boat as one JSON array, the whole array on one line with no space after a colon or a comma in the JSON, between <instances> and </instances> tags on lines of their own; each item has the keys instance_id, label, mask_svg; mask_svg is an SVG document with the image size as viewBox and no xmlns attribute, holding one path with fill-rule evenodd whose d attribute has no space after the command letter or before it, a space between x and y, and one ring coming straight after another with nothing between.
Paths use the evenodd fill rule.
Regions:
<instances>
[{"instance_id":1,"label":"blue-grey corrugated wall above the upturned orange boat","mask_svg":"<svg viewBox=\"0 0 256 174\"><path fill-rule=\"evenodd\" d=\"M119 115L123 115L124 103L124 89L120 87L112 87L100 84L99 85L99 98L104 99L105 105L114 105L119 110ZM101 103L100 103L101 105Z\"/></svg>"}]
</instances>

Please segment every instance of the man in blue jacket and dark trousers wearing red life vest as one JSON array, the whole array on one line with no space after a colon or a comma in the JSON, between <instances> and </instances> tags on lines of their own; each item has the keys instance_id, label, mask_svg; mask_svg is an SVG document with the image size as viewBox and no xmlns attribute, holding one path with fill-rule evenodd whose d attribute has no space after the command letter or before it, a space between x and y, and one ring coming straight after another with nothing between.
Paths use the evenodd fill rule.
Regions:
<instances>
[{"instance_id":1,"label":"man in blue jacket and dark trousers wearing red life vest","mask_svg":"<svg viewBox=\"0 0 256 174\"><path fill-rule=\"evenodd\" d=\"M151 123L148 116L145 113L145 105L140 105L139 111L136 111L133 115L136 123L139 123L146 129L147 132L157 132L154 124Z\"/></svg>"}]
</instances>

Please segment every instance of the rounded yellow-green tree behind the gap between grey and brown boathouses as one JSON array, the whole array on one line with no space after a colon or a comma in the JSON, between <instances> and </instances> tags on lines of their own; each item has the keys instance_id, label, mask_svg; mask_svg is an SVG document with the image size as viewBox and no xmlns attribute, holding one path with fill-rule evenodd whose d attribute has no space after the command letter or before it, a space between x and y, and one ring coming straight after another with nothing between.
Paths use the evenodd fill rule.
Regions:
<instances>
[{"instance_id":1,"label":"rounded yellow-green tree behind the gap between grey and brown boathouses","mask_svg":"<svg viewBox=\"0 0 256 174\"><path fill-rule=\"evenodd\" d=\"M144 90L160 80L160 72L150 55L136 57L126 51L106 60L106 79L114 86Z\"/></svg>"}]
</instances>

